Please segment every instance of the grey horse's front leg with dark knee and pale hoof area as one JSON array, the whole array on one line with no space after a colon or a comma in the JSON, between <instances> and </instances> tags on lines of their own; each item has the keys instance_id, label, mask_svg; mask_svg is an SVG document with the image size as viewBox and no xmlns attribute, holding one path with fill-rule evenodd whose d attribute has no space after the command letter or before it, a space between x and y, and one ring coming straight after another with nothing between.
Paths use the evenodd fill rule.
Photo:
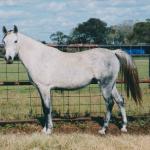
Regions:
<instances>
[{"instance_id":1,"label":"grey horse's front leg with dark knee and pale hoof area","mask_svg":"<svg viewBox=\"0 0 150 150\"><path fill-rule=\"evenodd\" d=\"M38 91L41 96L43 113L45 118L45 126L42 131L46 134L51 134L53 129L53 123L52 123L51 97L49 92L50 90L47 87L40 86L38 87Z\"/></svg>"}]
</instances>

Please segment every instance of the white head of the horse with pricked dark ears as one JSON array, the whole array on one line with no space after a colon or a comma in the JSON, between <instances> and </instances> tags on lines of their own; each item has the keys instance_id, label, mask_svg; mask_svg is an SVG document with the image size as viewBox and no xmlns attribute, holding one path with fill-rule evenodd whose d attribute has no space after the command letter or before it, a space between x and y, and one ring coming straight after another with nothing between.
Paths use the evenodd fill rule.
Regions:
<instances>
[{"instance_id":1,"label":"white head of the horse with pricked dark ears","mask_svg":"<svg viewBox=\"0 0 150 150\"><path fill-rule=\"evenodd\" d=\"M7 31L6 27L3 26L3 43L5 48L5 60L7 63L13 63L15 56L18 54L18 29L14 25L14 29Z\"/></svg>"}]
</instances>

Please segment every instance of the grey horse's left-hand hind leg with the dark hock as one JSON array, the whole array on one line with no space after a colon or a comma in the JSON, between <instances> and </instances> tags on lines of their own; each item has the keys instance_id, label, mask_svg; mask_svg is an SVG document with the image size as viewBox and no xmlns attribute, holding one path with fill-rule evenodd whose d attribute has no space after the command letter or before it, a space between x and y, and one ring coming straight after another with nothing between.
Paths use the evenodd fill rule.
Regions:
<instances>
[{"instance_id":1,"label":"grey horse's left-hand hind leg with the dark hock","mask_svg":"<svg viewBox=\"0 0 150 150\"><path fill-rule=\"evenodd\" d=\"M101 90L102 90L102 94L103 94L103 97L104 97L104 100L105 100L107 112L106 112L104 125L103 125L102 129L100 129L98 131L100 134L105 134L106 129L109 125L110 118L111 118L112 109L113 109L113 106L114 106L114 101L113 101L113 98L112 98L112 95L111 95L112 87L113 87L113 84L109 84L107 86L103 86L103 85L101 86Z\"/></svg>"}]
</instances>

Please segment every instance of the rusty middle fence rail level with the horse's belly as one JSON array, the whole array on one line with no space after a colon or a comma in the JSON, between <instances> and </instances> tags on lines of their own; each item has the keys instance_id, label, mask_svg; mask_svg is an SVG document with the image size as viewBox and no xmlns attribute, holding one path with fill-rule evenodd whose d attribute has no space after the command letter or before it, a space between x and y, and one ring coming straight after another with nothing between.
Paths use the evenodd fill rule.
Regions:
<instances>
[{"instance_id":1,"label":"rusty middle fence rail level with the horse's belly","mask_svg":"<svg viewBox=\"0 0 150 150\"><path fill-rule=\"evenodd\" d=\"M117 80L118 84L123 84L125 83L124 81L121 80ZM140 80L139 83L150 83L150 79L144 79L144 80ZM97 84L97 81L92 81L91 84ZM10 81L4 81L4 82L0 82L0 86L14 86L14 85L33 85L31 82L29 81L17 81L17 82L10 82Z\"/></svg>"}]
</instances>

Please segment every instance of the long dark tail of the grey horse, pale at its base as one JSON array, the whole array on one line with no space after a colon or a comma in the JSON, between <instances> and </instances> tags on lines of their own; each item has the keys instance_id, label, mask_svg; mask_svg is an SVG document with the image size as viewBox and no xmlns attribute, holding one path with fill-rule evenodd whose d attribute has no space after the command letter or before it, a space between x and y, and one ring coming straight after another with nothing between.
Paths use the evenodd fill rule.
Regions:
<instances>
[{"instance_id":1,"label":"long dark tail of the grey horse, pale at its base","mask_svg":"<svg viewBox=\"0 0 150 150\"><path fill-rule=\"evenodd\" d=\"M122 50L115 50L114 53L120 62L120 72L122 79L124 79L125 82L127 97L129 97L131 93L133 100L136 103L141 104L142 94L139 86L138 71L134 61L126 52Z\"/></svg>"}]
</instances>

